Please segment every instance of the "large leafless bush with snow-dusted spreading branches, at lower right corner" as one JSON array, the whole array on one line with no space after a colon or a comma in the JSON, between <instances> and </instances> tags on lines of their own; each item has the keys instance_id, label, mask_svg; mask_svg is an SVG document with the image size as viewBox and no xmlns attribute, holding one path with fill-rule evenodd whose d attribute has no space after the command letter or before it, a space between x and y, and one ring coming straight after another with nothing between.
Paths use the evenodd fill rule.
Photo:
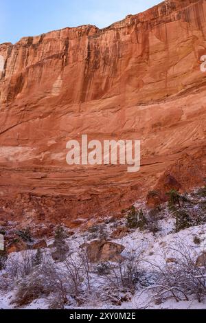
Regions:
<instances>
[{"instance_id":1,"label":"large leafless bush with snow-dusted spreading branches, at lower right corner","mask_svg":"<svg viewBox=\"0 0 206 323\"><path fill-rule=\"evenodd\" d=\"M168 258L170 254L172 258ZM196 256L192 254L190 247L183 241L170 247L162 265L151 264L155 267L157 281L153 287L155 302L174 298L176 302L189 300L195 296L198 302L206 297L206 269L196 266Z\"/></svg>"}]
</instances>

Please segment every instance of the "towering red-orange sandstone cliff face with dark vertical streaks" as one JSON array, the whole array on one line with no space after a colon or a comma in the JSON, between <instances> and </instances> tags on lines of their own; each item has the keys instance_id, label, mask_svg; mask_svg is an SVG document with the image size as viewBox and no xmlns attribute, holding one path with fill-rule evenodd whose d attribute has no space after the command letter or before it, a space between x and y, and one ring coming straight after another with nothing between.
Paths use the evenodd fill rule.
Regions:
<instances>
[{"instance_id":1,"label":"towering red-orange sandstone cliff face with dark vertical streaks","mask_svg":"<svg viewBox=\"0 0 206 323\"><path fill-rule=\"evenodd\" d=\"M205 17L205 0L164 1L103 30L68 27L0 45L0 217L69 225L162 189L164 173L183 190L198 186ZM67 165L66 144L82 134L141 140L141 170ZM197 179L181 164L183 153L193 169L201 165Z\"/></svg>"}]
</instances>

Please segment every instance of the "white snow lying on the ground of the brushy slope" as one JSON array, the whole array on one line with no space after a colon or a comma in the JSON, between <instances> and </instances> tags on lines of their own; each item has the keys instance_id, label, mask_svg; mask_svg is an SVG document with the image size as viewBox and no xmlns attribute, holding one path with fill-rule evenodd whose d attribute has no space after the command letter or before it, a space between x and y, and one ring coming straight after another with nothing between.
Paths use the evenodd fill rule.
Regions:
<instances>
[{"instance_id":1,"label":"white snow lying on the ground of the brushy slope","mask_svg":"<svg viewBox=\"0 0 206 323\"><path fill-rule=\"evenodd\" d=\"M139 208L139 205L136 205ZM146 210L145 205L141 205L141 208ZM194 210L197 208L194 205ZM197 208L198 212L198 208ZM126 219L119 220L119 223L113 223L107 221L104 223L104 230L108 236L111 236L111 233L114 232L117 227L125 225ZM131 252L141 252L143 260L142 267L144 272L149 275L153 272L154 266L159 265L161 267L162 263L165 261L165 258L168 260L174 259L176 256L174 254L175 247L179 247L179 243L183 243L191 252L191 256L197 258L203 252L206 251L205 241L206 241L206 223L201 225L196 225L189 227L185 230L181 230L176 233L174 230L175 219L168 212L168 208L165 205L163 208L162 219L159 220L159 232L153 234L148 230L140 231L139 229L132 229L126 234L123 238L110 239L114 243L119 243L124 245L125 249L122 252L123 257L127 257ZM199 243L196 242L195 238L198 238ZM92 236L91 231L80 232L77 230L73 236L67 238L66 242L69 245L69 252L76 256L77 251L80 249L80 245L96 240L95 235ZM47 241L47 244L51 244L53 241ZM172 250L172 247L174 248ZM49 252L49 248L46 249L46 252ZM171 260L172 261L172 260ZM152 265L154 264L154 266ZM58 266L63 266L58 264ZM4 271L1 271L0 279ZM96 273L92 273L93 280L95 281L95 288L98 288L98 284L101 285L101 276L98 276ZM152 278L148 278L152 280ZM152 283L151 283L152 284ZM130 298L119 304L119 306L112 304L111 302L106 302L105 300L92 298L84 304L77 306L76 302L71 302L71 304L66 304L65 308L67 309L206 309L206 295L205 301L198 302L196 298L192 295L188 300L183 300L176 302L174 298L169 298L155 304L152 301L152 291L150 291L150 285L140 286L137 288L135 293L130 294ZM0 309L14 309L16 305L13 304L12 300L14 299L14 293L16 287L12 291L0 291ZM23 309L47 309L48 308L48 298L43 296L34 300L27 306L22 307Z\"/></svg>"}]
</instances>

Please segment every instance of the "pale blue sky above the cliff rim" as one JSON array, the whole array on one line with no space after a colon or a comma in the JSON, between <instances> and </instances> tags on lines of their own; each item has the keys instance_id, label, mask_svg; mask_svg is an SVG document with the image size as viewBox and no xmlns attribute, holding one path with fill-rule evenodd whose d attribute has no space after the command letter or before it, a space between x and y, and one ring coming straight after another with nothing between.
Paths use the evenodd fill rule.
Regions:
<instances>
[{"instance_id":1,"label":"pale blue sky above the cliff rim","mask_svg":"<svg viewBox=\"0 0 206 323\"><path fill-rule=\"evenodd\" d=\"M161 0L0 0L0 43L63 27L106 27Z\"/></svg>"}]
</instances>

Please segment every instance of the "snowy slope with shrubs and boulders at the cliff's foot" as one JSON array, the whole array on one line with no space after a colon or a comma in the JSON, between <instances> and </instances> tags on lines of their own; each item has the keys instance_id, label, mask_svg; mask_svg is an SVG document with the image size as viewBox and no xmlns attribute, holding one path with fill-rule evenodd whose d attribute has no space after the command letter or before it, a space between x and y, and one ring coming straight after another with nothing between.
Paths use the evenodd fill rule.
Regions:
<instances>
[{"instance_id":1,"label":"snowy slope with shrubs and boulders at the cliff's foot","mask_svg":"<svg viewBox=\"0 0 206 323\"><path fill-rule=\"evenodd\" d=\"M106 219L82 234L69 236L57 225L49 247L1 252L0 295L12 294L10 307L17 308L205 304L205 188L168 197L161 207L134 205L125 219ZM29 246L35 240L30 230L17 233Z\"/></svg>"}]
</instances>

